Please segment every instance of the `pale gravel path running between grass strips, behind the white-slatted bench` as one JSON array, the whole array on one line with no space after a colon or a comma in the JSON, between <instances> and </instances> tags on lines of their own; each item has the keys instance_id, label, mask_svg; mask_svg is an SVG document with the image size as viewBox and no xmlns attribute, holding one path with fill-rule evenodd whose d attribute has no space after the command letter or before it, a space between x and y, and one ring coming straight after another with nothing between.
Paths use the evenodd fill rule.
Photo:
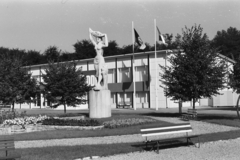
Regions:
<instances>
[{"instance_id":1,"label":"pale gravel path running between grass strips, behind the white-slatted bench","mask_svg":"<svg viewBox=\"0 0 240 160\"><path fill-rule=\"evenodd\" d=\"M156 118L162 121L172 123L183 123L178 118ZM223 125L215 125L200 121L190 121L193 132L191 134L206 134L237 130L239 128ZM167 138L185 135L185 133L163 135L154 139ZM107 136L107 137L91 137L91 138L70 138L70 139L55 139L55 140L38 140L38 141L16 141L16 148L39 148L47 146L74 146L74 145L91 145L91 144L110 144L110 143L127 143L127 142L143 142L144 138L140 134L124 135L124 136Z\"/></svg>"}]
</instances>

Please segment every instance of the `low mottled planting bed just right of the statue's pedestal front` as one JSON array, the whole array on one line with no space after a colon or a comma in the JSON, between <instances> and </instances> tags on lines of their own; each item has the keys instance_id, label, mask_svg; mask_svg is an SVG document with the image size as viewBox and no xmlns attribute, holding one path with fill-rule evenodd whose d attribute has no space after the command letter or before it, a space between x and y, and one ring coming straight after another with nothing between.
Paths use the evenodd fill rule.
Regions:
<instances>
[{"instance_id":1,"label":"low mottled planting bed just right of the statue's pedestal front","mask_svg":"<svg viewBox=\"0 0 240 160\"><path fill-rule=\"evenodd\" d=\"M139 124L146 124L156 122L154 119L149 118L129 118L129 119L118 119L103 122L104 128L119 128L119 127L127 127Z\"/></svg>"}]
</instances>

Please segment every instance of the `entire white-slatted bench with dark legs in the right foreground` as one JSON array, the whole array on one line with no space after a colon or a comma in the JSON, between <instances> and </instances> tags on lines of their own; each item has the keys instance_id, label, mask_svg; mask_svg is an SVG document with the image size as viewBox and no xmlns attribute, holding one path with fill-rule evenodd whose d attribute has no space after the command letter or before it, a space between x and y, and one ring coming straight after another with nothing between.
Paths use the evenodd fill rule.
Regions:
<instances>
[{"instance_id":1,"label":"entire white-slatted bench with dark legs in the right foreground","mask_svg":"<svg viewBox=\"0 0 240 160\"><path fill-rule=\"evenodd\" d=\"M148 148L148 144L153 144L152 149L156 146L157 153L159 153L159 145L161 142L171 142L174 140L185 139L187 140L187 145L189 142L192 142L192 138L198 138L198 148L200 148L199 136L198 135L188 135L189 132L192 132L192 127L190 123L181 123L181 124L171 124L166 126L156 126L156 127L146 127L142 128L141 135L146 137L145 145L146 149ZM148 137L151 136L161 136L161 135L170 135L175 133L186 133L186 136L177 136L173 138L165 138L165 139L157 139L157 140L149 140ZM193 142L192 142L193 143Z\"/></svg>"}]
</instances>

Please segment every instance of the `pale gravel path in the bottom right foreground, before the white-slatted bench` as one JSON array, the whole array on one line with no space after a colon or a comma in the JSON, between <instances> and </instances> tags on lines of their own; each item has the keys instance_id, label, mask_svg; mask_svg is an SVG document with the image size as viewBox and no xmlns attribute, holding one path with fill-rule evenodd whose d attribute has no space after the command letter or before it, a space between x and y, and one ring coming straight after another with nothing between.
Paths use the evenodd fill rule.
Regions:
<instances>
[{"instance_id":1,"label":"pale gravel path in the bottom right foreground, before the white-slatted bench","mask_svg":"<svg viewBox=\"0 0 240 160\"><path fill-rule=\"evenodd\" d=\"M156 152L134 152L99 160L239 160L240 138L228 141L217 141L201 144L200 148L193 146L160 150Z\"/></svg>"}]
</instances>

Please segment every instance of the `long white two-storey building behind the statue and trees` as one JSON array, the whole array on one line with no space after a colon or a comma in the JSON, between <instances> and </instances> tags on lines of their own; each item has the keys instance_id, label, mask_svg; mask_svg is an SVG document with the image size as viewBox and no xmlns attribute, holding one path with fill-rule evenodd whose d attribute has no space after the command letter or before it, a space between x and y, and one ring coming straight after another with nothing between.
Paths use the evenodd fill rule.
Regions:
<instances>
[{"instance_id":1,"label":"long white two-storey building behind the statue and trees","mask_svg":"<svg viewBox=\"0 0 240 160\"><path fill-rule=\"evenodd\" d=\"M166 57L175 52L174 50L160 50L134 53L135 66L135 88L136 88L136 106L133 106L133 54L116 55L105 57L108 65L108 88L111 90L112 108L116 108L121 102L131 102L132 108L176 108L178 103L167 98L164 95L164 89L160 87L159 65L169 65ZM230 64L233 61L225 56L220 55ZM93 59L84 59L77 61L77 66L82 68L83 73L87 76L87 82L95 84L95 70ZM42 82L42 74L45 73L47 64L29 66L32 76L39 82ZM236 96L231 90L223 90L223 95L211 99L202 99L197 105L224 106L232 105L236 101ZM224 102L222 102L224 101ZM16 104L15 108L46 108L50 103L44 98L44 95L38 95L37 101L31 104ZM183 103L183 106L190 107L190 102ZM69 109L86 109L88 105L79 105L77 107L68 107ZM61 106L60 106L61 109Z\"/></svg>"}]
</instances>

